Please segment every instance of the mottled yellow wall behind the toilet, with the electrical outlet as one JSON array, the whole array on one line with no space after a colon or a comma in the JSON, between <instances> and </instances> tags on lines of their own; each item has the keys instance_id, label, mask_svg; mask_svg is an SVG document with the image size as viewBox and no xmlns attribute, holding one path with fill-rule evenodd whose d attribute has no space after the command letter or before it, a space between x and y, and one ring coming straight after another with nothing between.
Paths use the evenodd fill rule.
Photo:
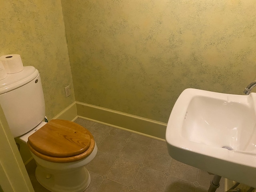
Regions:
<instances>
[{"instance_id":1,"label":"mottled yellow wall behind the toilet, with the electrical outlet","mask_svg":"<svg viewBox=\"0 0 256 192\"><path fill-rule=\"evenodd\" d=\"M51 119L75 101L60 0L0 2L0 56L20 54L24 66L39 70Z\"/></svg>"}]
</instances>

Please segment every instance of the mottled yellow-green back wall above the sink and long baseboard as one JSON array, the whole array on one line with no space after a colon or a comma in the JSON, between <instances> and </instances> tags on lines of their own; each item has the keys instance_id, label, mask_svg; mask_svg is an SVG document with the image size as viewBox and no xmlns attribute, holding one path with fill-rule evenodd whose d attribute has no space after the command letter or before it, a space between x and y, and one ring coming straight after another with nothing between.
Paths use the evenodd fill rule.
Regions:
<instances>
[{"instance_id":1,"label":"mottled yellow-green back wall above the sink and long baseboard","mask_svg":"<svg viewBox=\"0 0 256 192\"><path fill-rule=\"evenodd\" d=\"M242 94L255 78L255 0L62 0L62 10L79 102L167 122L184 89Z\"/></svg>"}]
</instances>

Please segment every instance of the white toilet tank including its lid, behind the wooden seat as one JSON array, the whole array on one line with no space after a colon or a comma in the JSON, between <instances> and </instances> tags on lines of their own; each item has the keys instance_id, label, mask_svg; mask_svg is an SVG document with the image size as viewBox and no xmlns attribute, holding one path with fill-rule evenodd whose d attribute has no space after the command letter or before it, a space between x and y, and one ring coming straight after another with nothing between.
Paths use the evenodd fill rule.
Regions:
<instances>
[{"instance_id":1,"label":"white toilet tank including its lid, behind the wooden seat","mask_svg":"<svg viewBox=\"0 0 256 192\"><path fill-rule=\"evenodd\" d=\"M0 104L14 138L40 124L45 105L38 70L25 66L21 72L0 80Z\"/></svg>"}]
</instances>

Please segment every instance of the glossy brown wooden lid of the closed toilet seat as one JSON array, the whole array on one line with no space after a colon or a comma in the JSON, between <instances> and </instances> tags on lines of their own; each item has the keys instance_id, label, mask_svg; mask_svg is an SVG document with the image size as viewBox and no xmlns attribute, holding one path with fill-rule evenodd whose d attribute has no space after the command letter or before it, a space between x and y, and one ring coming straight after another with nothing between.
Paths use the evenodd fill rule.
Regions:
<instances>
[{"instance_id":1,"label":"glossy brown wooden lid of the closed toilet seat","mask_svg":"<svg viewBox=\"0 0 256 192\"><path fill-rule=\"evenodd\" d=\"M28 144L46 156L72 157L88 150L91 137L79 124L54 119L29 136Z\"/></svg>"}]
</instances>

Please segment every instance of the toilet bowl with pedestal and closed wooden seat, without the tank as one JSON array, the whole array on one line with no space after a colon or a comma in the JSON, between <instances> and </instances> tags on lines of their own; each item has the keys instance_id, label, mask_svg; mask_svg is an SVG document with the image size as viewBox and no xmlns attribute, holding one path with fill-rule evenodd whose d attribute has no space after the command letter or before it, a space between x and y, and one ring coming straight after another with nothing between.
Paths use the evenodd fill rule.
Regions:
<instances>
[{"instance_id":1,"label":"toilet bowl with pedestal and closed wooden seat, without the tank","mask_svg":"<svg viewBox=\"0 0 256 192\"><path fill-rule=\"evenodd\" d=\"M19 138L36 161L36 179L52 192L82 192L90 184L84 167L97 153L92 134L67 120L42 122Z\"/></svg>"}]
</instances>

